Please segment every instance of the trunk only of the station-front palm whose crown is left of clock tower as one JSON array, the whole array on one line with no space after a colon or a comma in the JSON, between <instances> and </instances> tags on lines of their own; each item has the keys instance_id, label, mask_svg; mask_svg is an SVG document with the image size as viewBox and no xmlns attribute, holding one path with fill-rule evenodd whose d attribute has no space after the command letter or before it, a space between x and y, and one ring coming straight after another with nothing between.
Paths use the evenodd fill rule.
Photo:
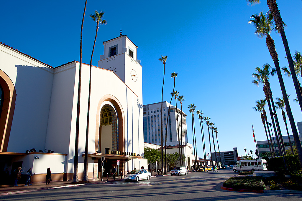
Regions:
<instances>
[{"instance_id":1,"label":"trunk only of the station-front palm whose crown is left of clock tower","mask_svg":"<svg viewBox=\"0 0 302 201\"><path fill-rule=\"evenodd\" d=\"M88 133L89 133L89 111L90 111L90 95L91 95L91 69L92 57L95 48L96 37L98 35L98 21L96 23L95 41L93 42L92 53L89 66L89 92L88 92L88 106L87 106L87 123L86 123L86 141L85 141L85 156L84 156L84 177L83 181L88 181Z\"/></svg>"}]
</instances>

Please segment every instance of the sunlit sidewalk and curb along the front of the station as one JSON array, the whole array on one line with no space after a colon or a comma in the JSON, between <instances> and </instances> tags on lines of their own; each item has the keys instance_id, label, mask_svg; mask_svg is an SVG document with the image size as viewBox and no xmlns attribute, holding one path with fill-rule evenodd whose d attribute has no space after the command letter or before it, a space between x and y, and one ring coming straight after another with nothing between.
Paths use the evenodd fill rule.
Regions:
<instances>
[{"instance_id":1,"label":"sunlit sidewalk and curb along the front of the station","mask_svg":"<svg viewBox=\"0 0 302 201\"><path fill-rule=\"evenodd\" d=\"M108 182L110 181L121 181L122 179L117 178L116 180L112 178L108 178ZM50 184L43 183L35 183L31 186L24 186L24 184L18 184L17 187L12 185L2 185L0 186L0 196L3 195L10 195L10 194L16 194L16 193L26 193L26 192L32 192L32 191L38 191L38 190L47 190L47 189L54 189L54 188L63 188L63 187L72 187L72 186L82 186L87 184L99 184L99 183L105 183L107 182L106 177L103 178L103 181L101 181L101 178L97 179L89 179L89 183L84 184L71 184L72 181L52 181Z\"/></svg>"}]
</instances>

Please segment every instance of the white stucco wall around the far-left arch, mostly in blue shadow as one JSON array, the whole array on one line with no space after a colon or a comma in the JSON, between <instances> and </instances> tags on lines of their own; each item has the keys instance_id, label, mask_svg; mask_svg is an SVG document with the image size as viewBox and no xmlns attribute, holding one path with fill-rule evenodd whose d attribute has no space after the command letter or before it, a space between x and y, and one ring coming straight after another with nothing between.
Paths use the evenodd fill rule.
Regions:
<instances>
[{"instance_id":1,"label":"white stucco wall around the far-left arch, mostly in blue shadow","mask_svg":"<svg viewBox=\"0 0 302 201\"><path fill-rule=\"evenodd\" d=\"M1 44L0 61L17 94L7 151L44 150L53 68Z\"/></svg>"}]
</instances>

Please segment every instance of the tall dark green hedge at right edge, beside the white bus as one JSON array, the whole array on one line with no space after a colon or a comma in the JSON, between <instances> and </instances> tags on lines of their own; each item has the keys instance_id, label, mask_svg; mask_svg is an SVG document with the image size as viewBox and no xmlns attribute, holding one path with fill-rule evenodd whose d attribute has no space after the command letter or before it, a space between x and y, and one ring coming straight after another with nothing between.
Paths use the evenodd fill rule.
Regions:
<instances>
[{"instance_id":1,"label":"tall dark green hedge at right edge, beside the white bus","mask_svg":"<svg viewBox=\"0 0 302 201\"><path fill-rule=\"evenodd\" d=\"M292 174L294 171L301 170L298 155L284 156L287 172L285 171L283 157L271 158L268 161L268 170L283 174Z\"/></svg>"}]
</instances>

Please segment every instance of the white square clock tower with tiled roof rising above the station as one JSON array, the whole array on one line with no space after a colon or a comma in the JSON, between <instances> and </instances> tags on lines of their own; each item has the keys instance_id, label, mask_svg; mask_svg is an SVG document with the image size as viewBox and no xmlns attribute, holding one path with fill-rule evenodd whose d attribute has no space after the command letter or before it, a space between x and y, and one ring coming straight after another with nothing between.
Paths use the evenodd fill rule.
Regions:
<instances>
[{"instance_id":1,"label":"white square clock tower with tiled roof rising above the station","mask_svg":"<svg viewBox=\"0 0 302 201\"><path fill-rule=\"evenodd\" d=\"M98 67L113 71L142 100L142 66L137 46L125 35L103 42L104 55Z\"/></svg>"}]
</instances>

